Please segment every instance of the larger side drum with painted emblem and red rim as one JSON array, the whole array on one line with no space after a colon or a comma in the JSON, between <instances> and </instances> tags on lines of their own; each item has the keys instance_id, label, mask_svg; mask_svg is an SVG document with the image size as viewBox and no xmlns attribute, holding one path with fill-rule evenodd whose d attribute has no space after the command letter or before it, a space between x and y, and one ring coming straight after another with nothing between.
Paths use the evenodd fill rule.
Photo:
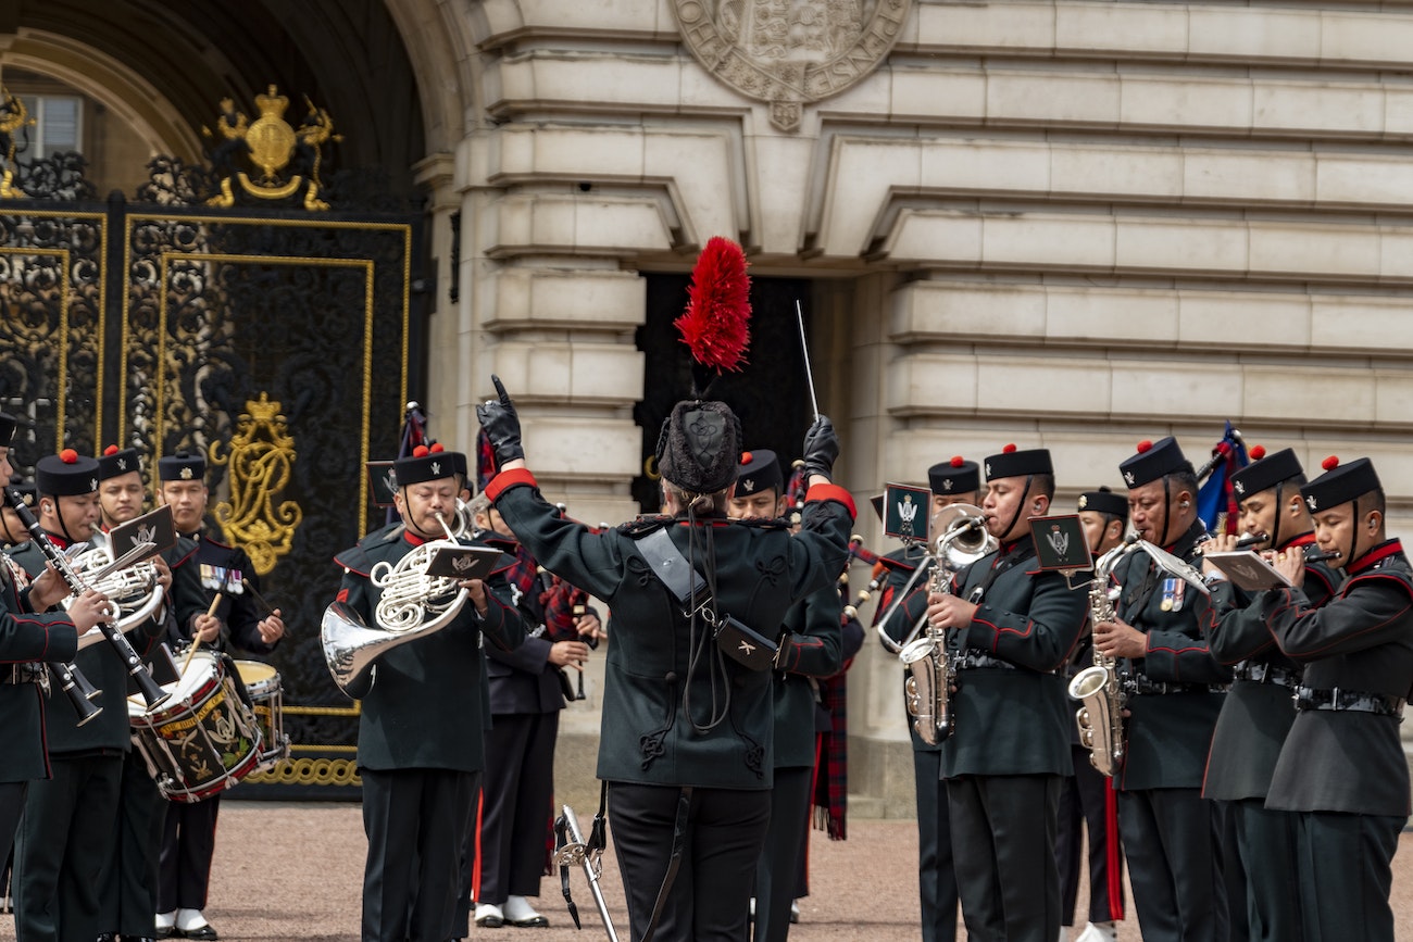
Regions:
<instances>
[{"instance_id":1,"label":"larger side drum with painted emblem and red rim","mask_svg":"<svg viewBox=\"0 0 1413 942\"><path fill-rule=\"evenodd\" d=\"M240 702L219 657L196 651L181 679L162 689L172 696L157 710L143 710L130 698L129 720L133 741L167 799L198 802L235 788L256 770L260 723Z\"/></svg>"}]
</instances>

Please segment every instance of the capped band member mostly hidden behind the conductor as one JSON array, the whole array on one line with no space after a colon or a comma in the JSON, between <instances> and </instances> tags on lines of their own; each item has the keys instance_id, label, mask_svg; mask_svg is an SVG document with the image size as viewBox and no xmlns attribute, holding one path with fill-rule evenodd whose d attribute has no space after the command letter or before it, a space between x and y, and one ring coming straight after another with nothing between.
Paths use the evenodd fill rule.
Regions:
<instances>
[{"instance_id":1,"label":"capped band member mostly hidden behind the conductor","mask_svg":"<svg viewBox=\"0 0 1413 942\"><path fill-rule=\"evenodd\" d=\"M776 453L764 448L742 453L726 517L779 520L786 510L784 476ZM842 665L842 610L839 592L831 585L791 606L781 627L788 638L788 662L777 661L771 672L776 771L766 843L756 863L755 942L790 935L800 854L810 835L817 705L811 679L828 676Z\"/></svg>"}]
</instances>

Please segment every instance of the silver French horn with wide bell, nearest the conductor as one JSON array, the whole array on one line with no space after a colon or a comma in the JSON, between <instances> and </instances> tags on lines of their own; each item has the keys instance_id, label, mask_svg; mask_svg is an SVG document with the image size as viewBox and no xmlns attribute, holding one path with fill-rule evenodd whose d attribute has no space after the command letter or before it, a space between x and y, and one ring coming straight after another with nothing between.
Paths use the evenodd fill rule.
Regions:
<instances>
[{"instance_id":1,"label":"silver French horn with wide bell, nearest the conductor","mask_svg":"<svg viewBox=\"0 0 1413 942\"><path fill-rule=\"evenodd\" d=\"M373 688L377 658L387 651L441 631L461 613L471 593L456 579L428 576L427 566L437 551L459 547L471 514L456 501L455 527L437 514L447 539L430 539L397 561L379 562L369 580L383 590L373 612L377 627L370 627L348 603L335 602L324 612L319 641L324 660L339 689L353 698L366 696Z\"/></svg>"}]
</instances>

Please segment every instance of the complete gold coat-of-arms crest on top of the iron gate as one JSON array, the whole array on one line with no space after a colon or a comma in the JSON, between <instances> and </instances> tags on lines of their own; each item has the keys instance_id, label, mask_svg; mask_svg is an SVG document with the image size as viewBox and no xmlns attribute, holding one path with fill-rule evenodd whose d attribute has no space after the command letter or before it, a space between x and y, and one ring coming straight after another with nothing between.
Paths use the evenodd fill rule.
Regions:
<instances>
[{"instance_id":1,"label":"complete gold coat-of-arms crest on top of the iron gate","mask_svg":"<svg viewBox=\"0 0 1413 942\"><path fill-rule=\"evenodd\" d=\"M274 85L264 95L256 96L260 117L253 121L236 110L232 99L220 100L220 120L216 123L216 130L201 129L206 137L220 137L215 153L218 169L222 164L229 167L233 162L232 157L244 151L250 164L259 171L259 179L250 179L243 169L229 167L230 172L220 181L220 195L208 201L212 206L233 206L235 185L240 184L242 189L259 199L287 199L307 185L304 208L311 210L329 208L319 199L319 189L324 186L319 181L319 164L324 160L324 148L331 143L338 144L343 136L333 133L333 119L326 110L315 107L308 96L304 97L304 103L309 109L308 116L298 127L291 127L284 120L290 99L280 95ZM307 171L285 177L285 169L295 157L304 158Z\"/></svg>"}]
</instances>

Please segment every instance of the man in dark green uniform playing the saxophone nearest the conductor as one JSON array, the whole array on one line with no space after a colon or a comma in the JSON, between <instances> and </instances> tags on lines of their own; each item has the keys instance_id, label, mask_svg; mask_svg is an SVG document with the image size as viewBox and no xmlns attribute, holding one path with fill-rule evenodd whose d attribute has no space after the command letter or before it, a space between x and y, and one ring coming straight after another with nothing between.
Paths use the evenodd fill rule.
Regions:
<instances>
[{"instance_id":1,"label":"man in dark green uniform playing the saxophone nearest the conductor","mask_svg":"<svg viewBox=\"0 0 1413 942\"><path fill-rule=\"evenodd\" d=\"M927 607L957 669L941 757L957 887L971 939L1053 942L1056 816L1074 722L1058 669L1084 626L1085 586L1036 568L1030 518L1054 496L1050 452L1007 445L982 466L985 525L1000 545Z\"/></svg>"}]
</instances>

